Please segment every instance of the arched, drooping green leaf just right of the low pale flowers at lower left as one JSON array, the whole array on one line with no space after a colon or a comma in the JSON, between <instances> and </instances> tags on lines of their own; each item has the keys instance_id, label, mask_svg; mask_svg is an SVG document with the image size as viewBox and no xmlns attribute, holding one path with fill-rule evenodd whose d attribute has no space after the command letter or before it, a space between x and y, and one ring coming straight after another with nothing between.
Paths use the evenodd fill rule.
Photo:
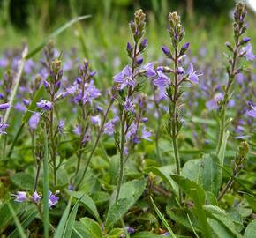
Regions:
<instances>
[{"instance_id":1,"label":"arched, drooping green leaf just right of the low pale flowers at lower left","mask_svg":"<svg viewBox=\"0 0 256 238\"><path fill-rule=\"evenodd\" d=\"M97 207L94 204L94 200L89 197L87 194L80 192L80 191L71 191L71 190L66 190L66 192L72 196L75 197L77 199L81 198L81 203L87 208L88 212L90 212L95 219L97 219L98 221L101 221L100 219L100 215L98 213Z\"/></svg>"}]
</instances>

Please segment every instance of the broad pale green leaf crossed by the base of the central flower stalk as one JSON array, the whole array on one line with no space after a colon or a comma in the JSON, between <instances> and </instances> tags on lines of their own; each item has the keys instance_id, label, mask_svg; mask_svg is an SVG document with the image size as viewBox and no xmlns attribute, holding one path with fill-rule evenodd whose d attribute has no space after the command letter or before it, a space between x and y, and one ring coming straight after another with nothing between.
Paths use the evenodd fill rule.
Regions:
<instances>
[{"instance_id":1,"label":"broad pale green leaf crossed by the base of the central flower stalk","mask_svg":"<svg viewBox=\"0 0 256 238\"><path fill-rule=\"evenodd\" d=\"M119 198L132 198L133 203L135 203L146 187L146 180L145 179L134 179L129 182L125 182L122 184L120 189L120 195ZM116 197L117 189L114 190L110 197L110 206L115 203L115 197Z\"/></svg>"}]
</instances>

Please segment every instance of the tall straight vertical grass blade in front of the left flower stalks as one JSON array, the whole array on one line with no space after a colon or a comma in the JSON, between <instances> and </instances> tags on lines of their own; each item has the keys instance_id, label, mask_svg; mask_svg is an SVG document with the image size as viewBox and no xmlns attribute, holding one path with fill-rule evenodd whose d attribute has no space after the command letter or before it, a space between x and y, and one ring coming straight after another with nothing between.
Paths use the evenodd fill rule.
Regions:
<instances>
[{"instance_id":1,"label":"tall straight vertical grass blade in front of the left flower stalks","mask_svg":"<svg viewBox=\"0 0 256 238\"><path fill-rule=\"evenodd\" d=\"M43 233L49 238L49 152L46 130L44 131L44 156L43 156Z\"/></svg>"}]
</instances>

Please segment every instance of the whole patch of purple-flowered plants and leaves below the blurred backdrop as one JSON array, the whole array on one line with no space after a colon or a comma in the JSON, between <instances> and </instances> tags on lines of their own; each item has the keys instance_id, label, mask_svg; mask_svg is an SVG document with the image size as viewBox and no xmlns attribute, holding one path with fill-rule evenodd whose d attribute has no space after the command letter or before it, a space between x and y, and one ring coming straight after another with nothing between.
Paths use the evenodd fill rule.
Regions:
<instances>
[{"instance_id":1,"label":"whole patch of purple-flowered plants and leaves below the blurred backdrop","mask_svg":"<svg viewBox=\"0 0 256 238\"><path fill-rule=\"evenodd\" d=\"M32 50L7 50L1 237L255 237L256 39L246 15L238 3L224 54L211 58L205 46L192 51L176 11L161 29L169 41L147 56L141 9L121 63L90 60L79 22L91 16ZM82 58L52 41L73 26Z\"/></svg>"}]
</instances>

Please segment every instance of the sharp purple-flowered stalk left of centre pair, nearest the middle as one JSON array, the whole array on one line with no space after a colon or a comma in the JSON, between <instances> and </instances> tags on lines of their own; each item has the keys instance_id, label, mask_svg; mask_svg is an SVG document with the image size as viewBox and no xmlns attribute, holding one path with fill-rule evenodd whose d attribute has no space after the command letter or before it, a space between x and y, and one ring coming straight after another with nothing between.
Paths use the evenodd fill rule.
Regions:
<instances>
[{"instance_id":1,"label":"sharp purple-flowered stalk left of centre pair, nearest the middle","mask_svg":"<svg viewBox=\"0 0 256 238\"><path fill-rule=\"evenodd\" d=\"M147 78L150 78L155 75L154 63L148 63L144 66L141 65L143 63L141 54L147 47L147 40L143 38L146 25L145 21L146 16L143 11L135 11L134 20L130 22L130 28L133 35L133 45L128 42L126 48L127 54L131 58L132 64L126 65L123 71L117 73L117 75L113 77L113 81L116 83L118 90L117 101L119 109L118 116L120 122L120 131L117 132L116 130L114 132L117 150L120 153L120 167L117 182L116 201L118 200L121 184L123 182L125 153L127 155L126 158L128 158L129 152L127 152L127 149L128 147L133 148L133 145L128 145L128 140L134 140L138 138L136 135L139 131L141 115L143 115L141 107L139 107L139 116L136 114L136 102L134 98L135 94L139 92L141 85L138 78L139 76L146 76ZM141 100L141 102L142 101L143 100ZM144 136L147 134L146 132L141 131ZM149 136L149 134L146 136ZM128 147L125 147L125 145Z\"/></svg>"}]
</instances>

